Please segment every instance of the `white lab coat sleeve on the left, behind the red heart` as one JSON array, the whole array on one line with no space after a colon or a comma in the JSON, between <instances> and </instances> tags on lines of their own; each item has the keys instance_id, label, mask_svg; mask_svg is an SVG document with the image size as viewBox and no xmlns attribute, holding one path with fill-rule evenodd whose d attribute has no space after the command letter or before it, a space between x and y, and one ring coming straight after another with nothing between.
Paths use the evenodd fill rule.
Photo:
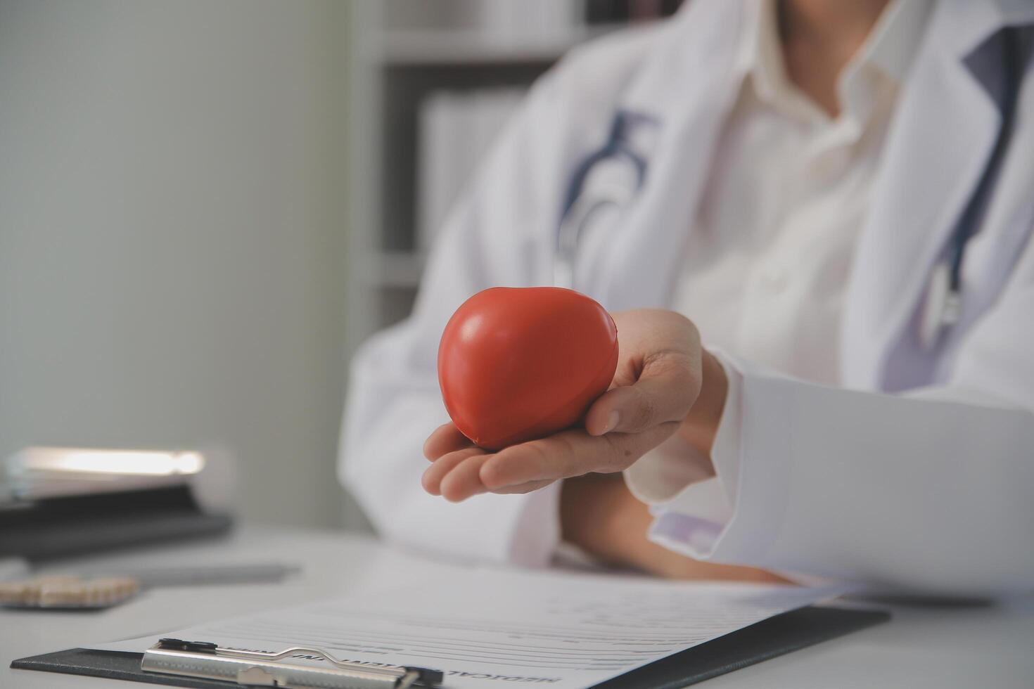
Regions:
<instances>
[{"instance_id":1,"label":"white lab coat sleeve on the left, behind the red heart","mask_svg":"<svg viewBox=\"0 0 1034 689\"><path fill-rule=\"evenodd\" d=\"M368 341L351 369L339 476L383 537L428 554L536 566L559 540L558 487L452 504L420 482L424 440L449 420L436 374L449 317L487 287L548 278L543 232L556 225L565 155L555 81L536 85L450 214L413 315Z\"/></svg>"}]
</instances>

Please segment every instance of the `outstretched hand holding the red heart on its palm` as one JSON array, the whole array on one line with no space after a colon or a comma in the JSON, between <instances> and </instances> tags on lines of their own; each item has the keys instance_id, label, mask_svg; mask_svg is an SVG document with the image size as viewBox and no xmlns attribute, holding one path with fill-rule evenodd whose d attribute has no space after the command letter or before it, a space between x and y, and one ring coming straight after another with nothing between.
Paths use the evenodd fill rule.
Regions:
<instances>
[{"instance_id":1,"label":"outstretched hand holding the red heart on its palm","mask_svg":"<svg viewBox=\"0 0 1034 689\"><path fill-rule=\"evenodd\" d=\"M584 428L490 452L446 424L424 444L433 462L424 489L453 502L486 492L527 493L561 478L621 471L676 431L707 457L727 381L700 347L696 326L657 309L614 314L614 382L589 408Z\"/></svg>"}]
</instances>

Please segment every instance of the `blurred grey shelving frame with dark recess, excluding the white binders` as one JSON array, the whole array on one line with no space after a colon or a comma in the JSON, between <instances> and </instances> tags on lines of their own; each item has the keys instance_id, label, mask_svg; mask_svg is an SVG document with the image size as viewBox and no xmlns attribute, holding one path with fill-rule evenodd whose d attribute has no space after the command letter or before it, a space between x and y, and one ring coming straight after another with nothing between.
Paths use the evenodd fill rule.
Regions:
<instances>
[{"instance_id":1,"label":"blurred grey shelving frame with dark recess, excluding the white binders","mask_svg":"<svg viewBox=\"0 0 1034 689\"><path fill-rule=\"evenodd\" d=\"M628 26L572 24L572 18L584 17L576 11L548 31L515 35L510 25L470 28L478 17L496 17L482 14L478 5L498 1L524 3L353 3L348 194L349 222L357 231L349 240L347 335L353 346L409 313L427 262L426 250L414 248L421 246L418 114L427 94L526 88L579 43ZM527 7L534 11L533 3Z\"/></svg>"}]
</instances>

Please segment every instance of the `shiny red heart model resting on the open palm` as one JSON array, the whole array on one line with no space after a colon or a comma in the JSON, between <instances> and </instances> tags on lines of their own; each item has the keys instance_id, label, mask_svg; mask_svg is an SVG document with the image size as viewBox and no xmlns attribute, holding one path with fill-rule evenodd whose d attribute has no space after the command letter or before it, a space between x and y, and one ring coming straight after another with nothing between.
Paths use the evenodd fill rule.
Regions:
<instances>
[{"instance_id":1,"label":"shiny red heart model resting on the open palm","mask_svg":"<svg viewBox=\"0 0 1034 689\"><path fill-rule=\"evenodd\" d=\"M456 428L488 449L542 438L585 415L617 368L617 327L559 287L493 287L464 302L438 345Z\"/></svg>"}]
</instances>

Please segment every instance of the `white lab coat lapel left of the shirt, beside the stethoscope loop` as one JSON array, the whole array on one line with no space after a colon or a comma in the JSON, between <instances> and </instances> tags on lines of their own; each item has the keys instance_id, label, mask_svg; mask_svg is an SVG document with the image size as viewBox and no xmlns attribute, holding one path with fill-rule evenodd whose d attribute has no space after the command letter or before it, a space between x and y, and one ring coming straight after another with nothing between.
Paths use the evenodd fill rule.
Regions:
<instances>
[{"instance_id":1,"label":"white lab coat lapel left of the shirt, beside the stethoscope loop","mask_svg":"<svg viewBox=\"0 0 1034 689\"><path fill-rule=\"evenodd\" d=\"M742 2L694 0L672 20L622 108L661 123L638 198L597 271L610 310L670 306L671 289L721 126L739 89Z\"/></svg>"}]
</instances>

